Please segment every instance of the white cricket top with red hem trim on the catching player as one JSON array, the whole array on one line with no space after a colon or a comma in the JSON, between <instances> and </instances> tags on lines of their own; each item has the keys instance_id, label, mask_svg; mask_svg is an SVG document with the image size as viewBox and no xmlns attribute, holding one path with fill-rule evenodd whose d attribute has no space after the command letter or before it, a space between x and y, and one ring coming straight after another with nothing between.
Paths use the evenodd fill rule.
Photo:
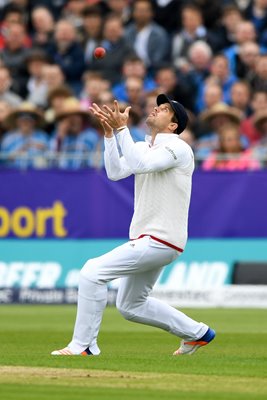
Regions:
<instances>
[{"instance_id":1,"label":"white cricket top with red hem trim on the catching player","mask_svg":"<svg viewBox=\"0 0 267 400\"><path fill-rule=\"evenodd\" d=\"M134 143L128 128L105 138L105 168L108 178L135 175L134 214L130 239L150 235L183 251L187 241L194 155L176 134L158 133L153 145Z\"/></svg>"}]
</instances>

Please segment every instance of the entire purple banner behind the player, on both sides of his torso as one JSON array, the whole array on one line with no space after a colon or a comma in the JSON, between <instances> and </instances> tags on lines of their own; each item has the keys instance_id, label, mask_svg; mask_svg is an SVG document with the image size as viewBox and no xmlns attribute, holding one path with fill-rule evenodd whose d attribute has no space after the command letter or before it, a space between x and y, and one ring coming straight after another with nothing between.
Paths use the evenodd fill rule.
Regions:
<instances>
[{"instance_id":1,"label":"entire purple banner behind the player, on both sides of his torso","mask_svg":"<svg viewBox=\"0 0 267 400\"><path fill-rule=\"evenodd\" d=\"M0 174L0 238L128 236L133 177L112 182L105 171L90 169L1 170ZM267 170L197 170L193 175L189 235L266 238L266 198Z\"/></svg>"}]
</instances>

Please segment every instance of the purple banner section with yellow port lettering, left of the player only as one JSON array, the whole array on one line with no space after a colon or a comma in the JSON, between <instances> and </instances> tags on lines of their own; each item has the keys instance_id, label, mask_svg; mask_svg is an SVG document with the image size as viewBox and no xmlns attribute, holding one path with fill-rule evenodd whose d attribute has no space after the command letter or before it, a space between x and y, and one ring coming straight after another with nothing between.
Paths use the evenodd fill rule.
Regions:
<instances>
[{"instance_id":1,"label":"purple banner section with yellow port lettering, left of the player only","mask_svg":"<svg viewBox=\"0 0 267 400\"><path fill-rule=\"evenodd\" d=\"M0 238L127 237L133 180L102 170L1 170Z\"/></svg>"}]
</instances>

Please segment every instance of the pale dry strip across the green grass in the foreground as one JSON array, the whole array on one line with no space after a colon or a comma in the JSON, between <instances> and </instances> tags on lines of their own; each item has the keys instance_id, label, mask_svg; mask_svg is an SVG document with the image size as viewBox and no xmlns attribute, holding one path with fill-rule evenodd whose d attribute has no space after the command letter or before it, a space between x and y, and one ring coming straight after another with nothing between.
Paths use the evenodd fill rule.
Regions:
<instances>
[{"instance_id":1,"label":"pale dry strip across the green grass in the foreground","mask_svg":"<svg viewBox=\"0 0 267 400\"><path fill-rule=\"evenodd\" d=\"M266 394L264 378L0 366L0 384L136 388L180 392Z\"/></svg>"}]
</instances>

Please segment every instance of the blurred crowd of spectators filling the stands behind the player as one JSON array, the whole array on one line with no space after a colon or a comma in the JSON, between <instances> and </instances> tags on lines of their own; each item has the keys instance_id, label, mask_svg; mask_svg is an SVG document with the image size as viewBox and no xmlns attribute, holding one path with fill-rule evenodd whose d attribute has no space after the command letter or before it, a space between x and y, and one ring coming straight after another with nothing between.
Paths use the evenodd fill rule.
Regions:
<instances>
[{"instance_id":1,"label":"blurred crowd of spectators filling the stands behind the player","mask_svg":"<svg viewBox=\"0 0 267 400\"><path fill-rule=\"evenodd\" d=\"M102 167L91 104L131 105L140 141L162 92L200 168L266 167L267 0L0 0L2 167Z\"/></svg>"}]
</instances>

